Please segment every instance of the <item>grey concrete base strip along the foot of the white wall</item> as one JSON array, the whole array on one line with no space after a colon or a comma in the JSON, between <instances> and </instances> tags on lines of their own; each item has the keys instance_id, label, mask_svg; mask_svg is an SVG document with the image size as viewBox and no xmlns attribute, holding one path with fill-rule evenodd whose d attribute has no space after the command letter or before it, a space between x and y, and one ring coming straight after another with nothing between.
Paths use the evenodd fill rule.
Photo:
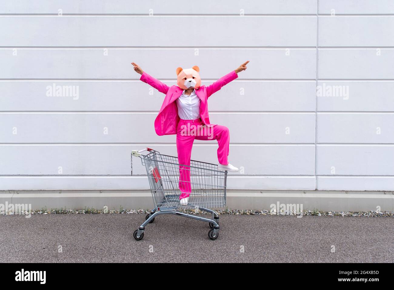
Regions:
<instances>
[{"instance_id":1,"label":"grey concrete base strip along the foot of the white wall","mask_svg":"<svg viewBox=\"0 0 394 290\"><path fill-rule=\"evenodd\" d=\"M32 209L151 209L150 191L0 191L0 203L31 204ZM394 211L392 191L255 191L229 190L229 209L269 210L271 204L298 204L303 210Z\"/></svg>"}]
</instances>

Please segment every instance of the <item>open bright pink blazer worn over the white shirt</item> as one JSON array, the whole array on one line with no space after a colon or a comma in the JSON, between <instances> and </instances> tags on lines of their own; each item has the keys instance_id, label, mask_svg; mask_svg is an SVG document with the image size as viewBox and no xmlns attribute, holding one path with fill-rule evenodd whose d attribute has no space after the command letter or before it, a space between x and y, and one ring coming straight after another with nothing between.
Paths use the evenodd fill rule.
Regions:
<instances>
[{"instance_id":1,"label":"open bright pink blazer worn over the white shirt","mask_svg":"<svg viewBox=\"0 0 394 290\"><path fill-rule=\"evenodd\" d=\"M232 80L238 78L238 74L235 71L232 71L225 76L222 76L209 86L201 86L195 90L197 97L201 99L200 105L200 117L203 123L207 126L214 126L210 124L209 115L208 115L208 103L207 100L213 93L219 91L221 87L225 86ZM146 72L143 72L140 80L151 85L159 92L165 94L164 102L162 104L162 108L154 120L154 130L156 130L156 134L159 136L162 135L172 135L177 134L177 126L179 122L178 117L178 107L176 99L182 95L183 89L178 86L167 86L160 82L160 80L156 80Z\"/></svg>"}]
</instances>

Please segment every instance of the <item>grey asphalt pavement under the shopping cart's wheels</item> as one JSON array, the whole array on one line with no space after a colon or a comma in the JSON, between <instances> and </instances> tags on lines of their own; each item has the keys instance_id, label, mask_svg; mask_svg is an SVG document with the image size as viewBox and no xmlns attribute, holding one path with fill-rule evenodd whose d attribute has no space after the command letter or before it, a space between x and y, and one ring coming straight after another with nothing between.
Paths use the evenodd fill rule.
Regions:
<instances>
[{"instance_id":1,"label":"grey asphalt pavement under the shopping cart's wheels","mask_svg":"<svg viewBox=\"0 0 394 290\"><path fill-rule=\"evenodd\" d=\"M209 217L208 215L203 215ZM0 216L2 262L394 262L392 217L221 215L208 224L145 214Z\"/></svg>"}]
</instances>

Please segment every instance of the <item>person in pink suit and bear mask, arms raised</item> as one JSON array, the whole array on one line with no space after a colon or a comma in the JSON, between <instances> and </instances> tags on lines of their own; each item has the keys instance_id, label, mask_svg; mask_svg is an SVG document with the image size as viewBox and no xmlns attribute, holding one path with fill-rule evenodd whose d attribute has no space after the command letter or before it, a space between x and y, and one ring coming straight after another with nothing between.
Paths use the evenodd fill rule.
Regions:
<instances>
[{"instance_id":1,"label":"person in pink suit and bear mask, arms raised","mask_svg":"<svg viewBox=\"0 0 394 290\"><path fill-rule=\"evenodd\" d=\"M210 124L208 115L208 98L219 91L232 80L238 78L238 72L245 71L246 61L234 71L219 78L209 86L201 86L199 67L191 69L177 68L178 86L167 86L156 80L136 63L132 63L134 71L141 74L140 80L156 88L165 94L162 108L160 109L155 121L154 128L156 134L177 135L177 151L179 164L179 189L180 204L187 205L188 197L191 193L190 185L190 157L193 141L197 140L217 140L218 170L238 171L237 167L229 164L230 133L225 126Z\"/></svg>"}]
</instances>

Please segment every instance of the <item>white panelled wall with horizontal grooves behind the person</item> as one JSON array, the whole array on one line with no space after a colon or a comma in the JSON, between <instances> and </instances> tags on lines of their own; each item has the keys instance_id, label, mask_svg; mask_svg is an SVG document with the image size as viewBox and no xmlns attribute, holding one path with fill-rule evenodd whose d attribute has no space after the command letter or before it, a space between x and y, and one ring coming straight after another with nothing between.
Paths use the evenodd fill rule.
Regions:
<instances>
[{"instance_id":1,"label":"white panelled wall with horizontal grooves behind the person","mask_svg":"<svg viewBox=\"0 0 394 290\"><path fill-rule=\"evenodd\" d=\"M392 0L4 0L0 27L0 190L146 189L130 151L175 155L175 136L154 133L164 95L130 62L167 84L198 65L209 84L246 60L209 99L244 169L229 189L394 189ZM216 162L215 141L192 158Z\"/></svg>"}]
</instances>

